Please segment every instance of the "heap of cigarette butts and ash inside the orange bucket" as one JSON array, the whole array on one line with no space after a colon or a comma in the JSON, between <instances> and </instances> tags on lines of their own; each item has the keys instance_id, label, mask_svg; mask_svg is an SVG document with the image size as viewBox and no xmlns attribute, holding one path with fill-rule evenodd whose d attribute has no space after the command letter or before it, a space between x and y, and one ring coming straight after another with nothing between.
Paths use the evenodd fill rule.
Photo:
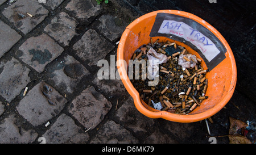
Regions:
<instances>
[{"instance_id":1,"label":"heap of cigarette butts and ash inside the orange bucket","mask_svg":"<svg viewBox=\"0 0 256 155\"><path fill-rule=\"evenodd\" d=\"M147 62L147 54L151 48L167 56L166 63L159 65L158 85L148 86L148 82L152 80L142 79L141 74L139 79L131 79L141 99L148 106L156 108L155 103L158 103L160 104L160 108L156 108L158 110L185 115L200 106L204 99L208 99L205 96L208 85L205 74L209 70L203 69L200 58L192 56L184 47L177 46L176 43L170 41L159 43L159 39L154 42L150 39L150 43L139 47L131 59L144 59ZM184 64L193 64L193 67L184 68L179 65L181 58Z\"/></svg>"}]
</instances>

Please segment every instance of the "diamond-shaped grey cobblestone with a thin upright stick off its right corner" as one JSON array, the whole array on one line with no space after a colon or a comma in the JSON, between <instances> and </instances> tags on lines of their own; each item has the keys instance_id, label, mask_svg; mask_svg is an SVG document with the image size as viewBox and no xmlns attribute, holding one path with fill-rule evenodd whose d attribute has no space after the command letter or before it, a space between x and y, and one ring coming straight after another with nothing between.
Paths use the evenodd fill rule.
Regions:
<instances>
[{"instance_id":1,"label":"diamond-shaped grey cobblestone with a thin upright stick off its right corner","mask_svg":"<svg viewBox=\"0 0 256 155\"><path fill-rule=\"evenodd\" d=\"M85 128L95 128L108 114L112 104L102 94L98 93L93 86L88 87L72 100L69 112Z\"/></svg>"}]
</instances>

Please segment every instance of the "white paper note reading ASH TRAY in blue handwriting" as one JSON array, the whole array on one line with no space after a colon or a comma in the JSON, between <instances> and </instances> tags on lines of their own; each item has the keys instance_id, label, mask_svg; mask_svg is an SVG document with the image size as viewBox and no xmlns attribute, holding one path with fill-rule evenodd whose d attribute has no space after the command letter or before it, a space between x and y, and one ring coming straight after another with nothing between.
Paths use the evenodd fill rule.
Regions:
<instances>
[{"instance_id":1,"label":"white paper note reading ASH TRAY in blue handwriting","mask_svg":"<svg viewBox=\"0 0 256 155\"><path fill-rule=\"evenodd\" d=\"M216 45L214 45L214 43L207 36L183 22L176 22L175 20L163 20L158 33L182 37L200 49L208 61L213 60L213 58L220 53Z\"/></svg>"}]
</instances>

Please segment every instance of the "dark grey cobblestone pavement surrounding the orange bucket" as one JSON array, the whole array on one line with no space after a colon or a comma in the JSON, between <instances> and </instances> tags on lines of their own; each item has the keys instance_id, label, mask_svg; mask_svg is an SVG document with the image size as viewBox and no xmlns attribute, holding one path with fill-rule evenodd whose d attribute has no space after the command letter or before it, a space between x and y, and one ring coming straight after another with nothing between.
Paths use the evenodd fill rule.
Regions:
<instances>
[{"instance_id":1,"label":"dark grey cobblestone pavement surrounding the orange bucket","mask_svg":"<svg viewBox=\"0 0 256 155\"><path fill-rule=\"evenodd\" d=\"M210 136L228 135L229 116L255 123L253 2L0 0L0 143L210 143ZM204 120L147 118L120 80L97 78L97 62L116 57L126 26L162 9L200 16L233 49L237 88L212 116L211 135ZM247 137L253 141L255 131Z\"/></svg>"}]
</instances>

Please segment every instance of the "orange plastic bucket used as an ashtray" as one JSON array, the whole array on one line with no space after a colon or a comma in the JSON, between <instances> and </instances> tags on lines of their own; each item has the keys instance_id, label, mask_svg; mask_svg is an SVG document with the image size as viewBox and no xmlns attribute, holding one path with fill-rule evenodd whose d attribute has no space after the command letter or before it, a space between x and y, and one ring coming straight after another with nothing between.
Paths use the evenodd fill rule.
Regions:
<instances>
[{"instance_id":1,"label":"orange plastic bucket used as an ashtray","mask_svg":"<svg viewBox=\"0 0 256 155\"><path fill-rule=\"evenodd\" d=\"M226 52L224 53L225 58L217 66L210 70L209 73L207 73L206 78L208 78L208 88L205 95L209 98L204 100L201 103L201 106L195 108L195 110L187 115L171 114L170 112L155 110L154 108L148 106L140 98L138 91L134 88L127 76L126 70L128 64L125 63L129 62L136 49L138 49L141 45L148 44L150 42L150 32L158 13L172 14L192 19L193 21L201 24L201 26L212 32L212 34L221 41L226 49ZM180 41L172 40L163 36L152 37L152 39L153 41L156 39L160 39L160 41L175 41L177 45L185 47L189 53L192 53L201 58L195 50L193 50L191 47L188 47L188 45L181 43ZM208 69L208 66L204 61L201 64L204 69ZM160 10L150 12L134 20L134 22L127 26L126 30L122 34L117 49L117 68L119 76L121 77L126 90L134 99L135 107L143 115L146 115L149 118L163 118L172 122L181 123L197 122L203 119L207 119L220 111L232 97L237 81L236 62L234 60L232 50L230 49L229 44L226 42L224 37L214 27L210 26L209 23L205 22L198 16L177 10Z\"/></svg>"}]
</instances>

